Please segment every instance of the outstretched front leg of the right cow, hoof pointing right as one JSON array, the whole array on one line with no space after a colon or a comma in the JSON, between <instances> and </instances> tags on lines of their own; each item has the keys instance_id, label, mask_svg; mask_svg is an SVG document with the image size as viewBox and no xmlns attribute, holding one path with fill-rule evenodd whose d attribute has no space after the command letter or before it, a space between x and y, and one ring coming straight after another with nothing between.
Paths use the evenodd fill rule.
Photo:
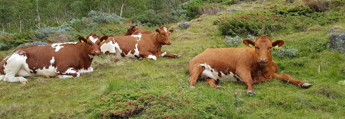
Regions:
<instances>
[{"instance_id":1,"label":"outstretched front leg of the right cow, hoof pointing right","mask_svg":"<svg viewBox=\"0 0 345 119\"><path fill-rule=\"evenodd\" d=\"M300 86L302 88L309 88L309 87L313 86L312 84L305 83L303 81L295 80L289 74L280 74L280 73L276 72L276 73L273 74L273 78L283 79L284 82L289 82L289 83L292 83L292 84L294 84L296 86Z\"/></svg>"}]
</instances>

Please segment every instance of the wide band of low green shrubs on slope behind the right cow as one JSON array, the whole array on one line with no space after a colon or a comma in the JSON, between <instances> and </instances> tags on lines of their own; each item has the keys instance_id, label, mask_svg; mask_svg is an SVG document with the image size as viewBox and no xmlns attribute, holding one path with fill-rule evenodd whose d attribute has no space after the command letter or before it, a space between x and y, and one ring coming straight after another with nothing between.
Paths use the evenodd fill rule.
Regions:
<instances>
[{"instance_id":1,"label":"wide band of low green shrubs on slope behind the right cow","mask_svg":"<svg viewBox=\"0 0 345 119\"><path fill-rule=\"evenodd\" d=\"M325 25L344 18L337 12L313 12L309 7L277 8L222 17L214 21L224 35L271 35L280 30L305 31L312 25Z\"/></svg>"}]
</instances>

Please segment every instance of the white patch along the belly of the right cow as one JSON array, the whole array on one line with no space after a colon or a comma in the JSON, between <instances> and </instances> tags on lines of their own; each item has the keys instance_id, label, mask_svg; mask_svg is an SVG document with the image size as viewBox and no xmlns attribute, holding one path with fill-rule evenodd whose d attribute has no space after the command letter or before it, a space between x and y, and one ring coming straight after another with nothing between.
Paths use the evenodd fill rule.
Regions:
<instances>
[{"instance_id":1,"label":"white patch along the belly of the right cow","mask_svg":"<svg viewBox=\"0 0 345 119\"><path fill-rule=\"evenodd\" d=\"M204 66L205 70L201 73L201 76L206 76L208 78L224 81L224 82L235 82L237 79L235 78L235 74L233 72L230 72L226 75L221 71L217 71L216 69L212 69L211 66L209 66L206 63L199 64L199 66ZM211 71L212 70L212 71ZM218 75L218 72L220 73L221 77ZM240 77L238 76L240 79ZM242 81L242 79L240 79Z\"/></svg>"}]
</instances>

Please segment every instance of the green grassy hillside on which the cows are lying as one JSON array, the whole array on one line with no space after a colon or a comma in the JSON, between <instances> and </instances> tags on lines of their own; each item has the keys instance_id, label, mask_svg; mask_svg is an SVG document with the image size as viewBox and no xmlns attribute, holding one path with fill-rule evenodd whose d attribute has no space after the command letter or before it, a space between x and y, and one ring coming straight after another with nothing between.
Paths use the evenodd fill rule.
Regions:
<instances>
[{"instance_id":1,"label":"green grassy hillside on which the cows are lying","mask_svg":"<svg viewBox=\"0 0 345 119\"><path fill-rule=\"evenodd\" d=\"M91 64L94 72L82 73L79 78L27 78L28 84L0 81L0 118L345 118L345 86L337 84L345 78L345 57L320 45L329 43L329 28L345 27L344 19L312 26L304 32L279 31L270 36L273 40L285 40L285 48L298 49L294 58L273 58L278 72L313 84L309 89L279 79L255 84L255 95L246 94L247 87L237 82L218 83L225 90L217 90L199 80L196 88L189 88L188 62L206 48L226 47L225 36L213 24L214 20L266 10L269 5L299 4L303 2L256 1L228 6L216 15L203 14L190 21L188 29L173 32L172 45L163 46L162 51L183 56L178 59L132 61L102 55ZM241 11L226 11L232 8ZM167 26L178 28L178 23ZM125 33L128 25L104 24L94 32L118 35L102 32L117 27L121 31L114 31ZM0 54L8 56L13 52Z\"/></svg>"}]
</instances>

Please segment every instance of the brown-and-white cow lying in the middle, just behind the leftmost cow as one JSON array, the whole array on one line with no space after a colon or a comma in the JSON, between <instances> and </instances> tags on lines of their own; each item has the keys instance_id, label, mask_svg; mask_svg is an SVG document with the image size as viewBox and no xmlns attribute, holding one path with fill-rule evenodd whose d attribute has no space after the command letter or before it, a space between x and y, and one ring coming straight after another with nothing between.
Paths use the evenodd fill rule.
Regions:
<instances>
[{"instance_id":1,"label":"brown-and-white cow lying in the middle, just behind the leftmost cow","mask_svg":"<svg viewBox=\"0 0 345 119\"><path fill-rule=\"evenodd\" d=\"M167 26L161 26L150 34L108 37L108 40L101 44L101 52L117 57L151 60L157 60L159 57L179 58L180 55L161 51L163 45L172 44L170 40L172 32L173 29L167 30Z\"/></svg>"}]
</instances>

